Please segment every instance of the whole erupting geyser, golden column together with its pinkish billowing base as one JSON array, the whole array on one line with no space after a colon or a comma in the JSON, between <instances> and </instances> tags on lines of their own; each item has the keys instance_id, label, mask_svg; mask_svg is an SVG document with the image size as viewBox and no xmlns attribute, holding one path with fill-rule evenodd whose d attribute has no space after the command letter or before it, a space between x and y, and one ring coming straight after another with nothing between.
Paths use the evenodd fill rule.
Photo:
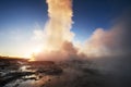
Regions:
<instances>
[{"instance_id":1,"label":"whole erupting geyser, golden column together with its pinkish billowing base","mask_svg":"<svg viewBox=\"0 0 131 87\"><path fill-rule=\"evenodd\" d=\"M47 0L49 20L44 29L44 51L35 60L63 60L78 57L72 45L72 0Z\"/></svg>"}]
</instances>

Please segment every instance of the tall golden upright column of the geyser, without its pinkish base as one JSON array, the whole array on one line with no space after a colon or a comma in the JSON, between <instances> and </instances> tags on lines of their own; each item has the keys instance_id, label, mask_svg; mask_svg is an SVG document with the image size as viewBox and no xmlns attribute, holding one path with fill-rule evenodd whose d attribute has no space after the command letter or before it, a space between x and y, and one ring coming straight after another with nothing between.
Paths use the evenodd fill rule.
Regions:
<instances>
[{"instance_id":1,"label":"tall golden upright column of the geyser, without its pinkish base","mask_svg":"<svg viewBox=\"0 0 131 87\"><path fill-rule=\"evenodd\" d=\"M45 27L46 47L59 50L64 41L71 41L72 0L47 0L49 21Z\"/></svg>"}]
</instances>

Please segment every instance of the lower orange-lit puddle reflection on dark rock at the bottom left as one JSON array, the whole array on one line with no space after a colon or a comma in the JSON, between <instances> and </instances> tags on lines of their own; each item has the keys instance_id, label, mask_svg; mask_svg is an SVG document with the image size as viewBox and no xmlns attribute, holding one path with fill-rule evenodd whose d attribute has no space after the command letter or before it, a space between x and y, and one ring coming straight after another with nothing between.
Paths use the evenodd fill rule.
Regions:
<instances>
[{"instance_id":1,"label":"lower orange-lit puddle reflection on dark rock at the bottom left","mask_svg":"<svg viewBox=\"0 0 131 87\"><path fill-rule=\"evenodd\" d=\"M38 75L23 76L22 78L12 82L4 87L41 87L45 85L52 76L44 76L39 78Z\"/></svg>"}]
</instances>

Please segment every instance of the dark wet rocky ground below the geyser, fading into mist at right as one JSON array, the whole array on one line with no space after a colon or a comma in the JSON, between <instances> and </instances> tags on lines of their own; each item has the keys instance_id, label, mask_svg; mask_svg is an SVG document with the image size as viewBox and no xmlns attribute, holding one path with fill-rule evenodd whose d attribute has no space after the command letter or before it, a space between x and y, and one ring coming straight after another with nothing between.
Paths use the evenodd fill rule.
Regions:
<instances>
[{"instance_id":1,"label":"dark wet rocky ground below the geyser, fading into mist at right","mask_svg":"<svg viewBox=\"0 0 131 87\"><path fill-rule=\"evenodd\" d=\"M108 87L88 62L0 61L0 87Z\"/></svg>"}]
</instances>

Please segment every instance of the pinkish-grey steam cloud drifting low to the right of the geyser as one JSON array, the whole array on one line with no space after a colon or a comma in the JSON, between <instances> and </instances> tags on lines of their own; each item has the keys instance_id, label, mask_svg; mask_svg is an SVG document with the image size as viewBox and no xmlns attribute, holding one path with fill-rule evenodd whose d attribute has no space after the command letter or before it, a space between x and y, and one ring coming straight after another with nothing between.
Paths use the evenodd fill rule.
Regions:
<instances>
[{"instance_id":1,"label":"pinkish-grey steam cloud drifting low to the right of the geyser","mask_svg":"<svg viewBox=\"0 0 131 87\"><path fill-rule=\"evenodd\" d=\"M91 57L110 57L131 54L131 12L116 20L114 26L105 30L97 28L86 40L83 52Z\"/></svg>"}]
</instances>

